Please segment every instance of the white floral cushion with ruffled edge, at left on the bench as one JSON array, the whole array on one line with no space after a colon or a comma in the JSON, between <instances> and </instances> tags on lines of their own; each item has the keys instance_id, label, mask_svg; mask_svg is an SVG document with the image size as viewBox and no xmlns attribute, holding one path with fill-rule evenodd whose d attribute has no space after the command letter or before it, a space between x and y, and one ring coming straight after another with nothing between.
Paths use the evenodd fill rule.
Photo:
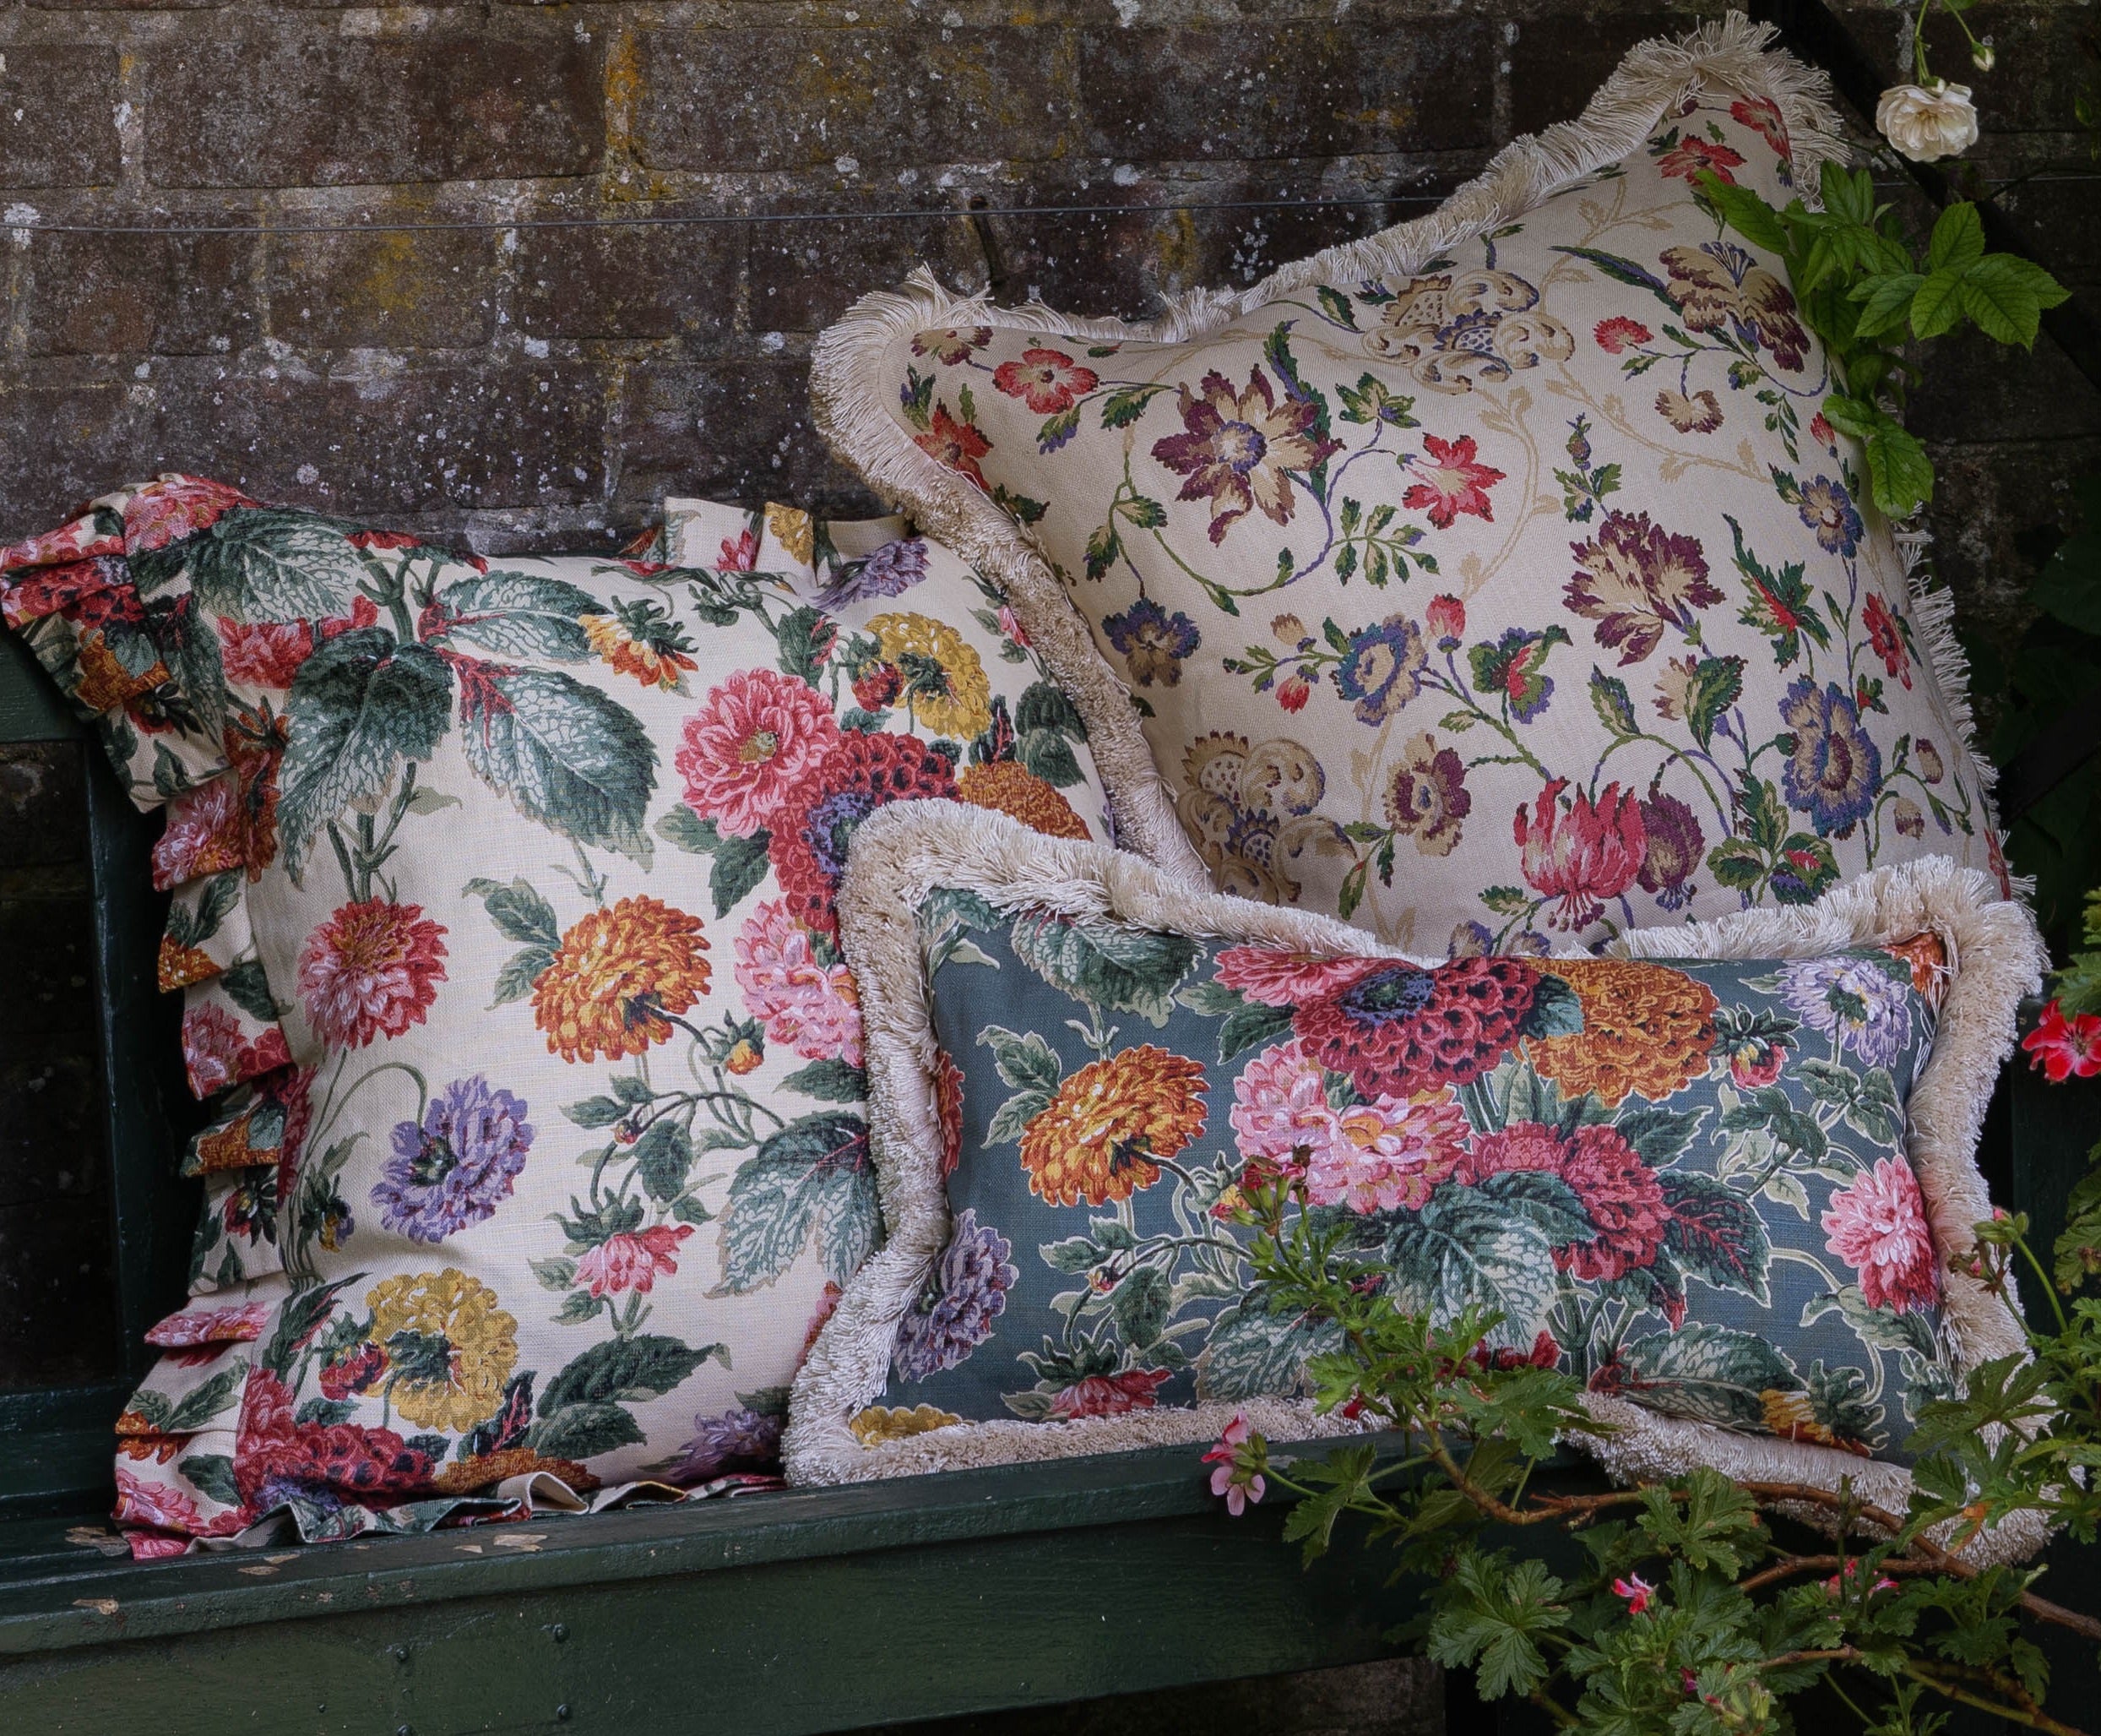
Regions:
<instances>
[{"instance_id":1,"label":"white floral cushion with ruffled edge, at left on the bench","mask_svg":"<svg viewBox=\"0 0 2101 1736\"><path fill-rule=\"evenodd\" d=\"M483 561L170 475L0 555L168 811L160 977L216 1097L193 1299L118 1425L141 1553L777 1467L880 1236L847 839L916 794L1099 839L1105 792L958 557L683 523L687 565Z\"/></svg>"}]
</instances>

